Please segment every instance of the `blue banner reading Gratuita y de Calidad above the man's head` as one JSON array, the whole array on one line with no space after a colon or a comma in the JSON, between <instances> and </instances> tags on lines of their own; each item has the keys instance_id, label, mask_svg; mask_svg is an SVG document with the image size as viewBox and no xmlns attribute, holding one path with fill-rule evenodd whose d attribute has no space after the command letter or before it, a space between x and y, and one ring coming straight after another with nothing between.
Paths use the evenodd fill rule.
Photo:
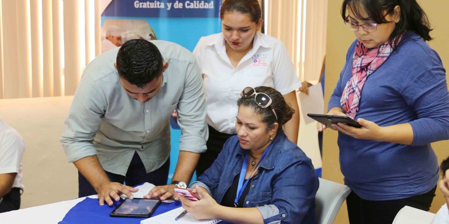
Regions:
<instances>
[{"instance_id":1,"label":"blue banner reading Gratuita y de Calidad above the man's head","mask_svg":"<svg viewBox=\"0 0 449 224\"><path fill-rule=\"evenodd\" d=\"M114 39L120 35L121 43L160 39L193 51L202 36L221 32L221 5L222 0L102 0L102 49L111 42L120 46Z\"/></svg>"}]
</instances>

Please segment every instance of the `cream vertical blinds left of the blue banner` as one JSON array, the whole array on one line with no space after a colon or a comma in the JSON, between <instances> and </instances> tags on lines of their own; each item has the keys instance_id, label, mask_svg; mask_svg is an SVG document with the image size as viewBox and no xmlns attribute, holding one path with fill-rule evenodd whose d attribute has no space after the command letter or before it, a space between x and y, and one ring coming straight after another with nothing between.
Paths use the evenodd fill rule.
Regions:
<instances>
[{"instance_id":1,"label":"cream vertical blinds left of the blue banner","mask_svg":"<svg viewBox=\"0 0 449 224\"><path fill-rule=\"evenodd\" d=\"M73 95L99 54L99 1L1 0L0 99Z\"/></svg>"}]
</instances>

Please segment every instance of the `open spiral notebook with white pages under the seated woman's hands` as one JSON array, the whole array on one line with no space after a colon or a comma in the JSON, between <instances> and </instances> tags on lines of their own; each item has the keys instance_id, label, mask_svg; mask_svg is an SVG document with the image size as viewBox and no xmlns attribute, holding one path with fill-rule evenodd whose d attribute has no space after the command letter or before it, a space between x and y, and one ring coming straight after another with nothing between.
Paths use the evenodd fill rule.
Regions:
<instances>
[{"instance_id":1,"label":"open spiral notebook with white pages under the seated woman's hands","mask_svg":"<svg viewBox=\"0 0 449 224\"><path fill-rule=\"evenodd\" d=\"M158 216L140 221L140 224L217 224L221 220L197 220L192 214L187 213L178 221L175 218L184 211L183 207L171 210Z\"/></svg>"}]
</instances>

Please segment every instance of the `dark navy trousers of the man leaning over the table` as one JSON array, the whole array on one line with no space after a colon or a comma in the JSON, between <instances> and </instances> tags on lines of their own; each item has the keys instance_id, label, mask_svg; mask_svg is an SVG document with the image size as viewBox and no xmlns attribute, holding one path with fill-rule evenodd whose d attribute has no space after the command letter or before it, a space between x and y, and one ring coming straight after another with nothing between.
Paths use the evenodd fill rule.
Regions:
<instances>
[{"instance_id":1,"label":"dark navy trousers of the man leaning over the table","mask_svg":"<svg viewBox=\"0 0 449 224\"><path fill-rule=\"evenodd\" d=\"M112 182L126 183L128 186L136 186L144 182L152 183L156 186L166 185L168 179L168 173L170 169L170 158L159 169L147 173L145 166L142 163L137 152L134 153L133 159L129 164L126 176L106 172L109 180ZM87 179L78 171L78 197L86 197L89 195L96 195L97 192L90 185Z\"/></svg>"}]
</instances>

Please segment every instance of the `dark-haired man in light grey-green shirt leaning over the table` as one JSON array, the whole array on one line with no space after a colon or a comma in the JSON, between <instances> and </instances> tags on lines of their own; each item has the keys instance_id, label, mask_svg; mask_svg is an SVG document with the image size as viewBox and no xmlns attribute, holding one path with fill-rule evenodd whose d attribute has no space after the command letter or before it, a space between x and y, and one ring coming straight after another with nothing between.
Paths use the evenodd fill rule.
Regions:
<instances>
[{"instance_id":1,"label":"dark-haired man in light grey-green shirt leaning over the table","mask_svg":"<svg viewBox=\"0 0 449 224\"><path fill-rule=\"evenodd\" d=\"M208 137L203 81L193 54L168 41L130 40L95 58L83 73L61 136L68 161L79 171L79 197L98 193L100 205L112 205L120 194L132 198L137 189L130 186L143 182L157 186L147 198L173 196L175 184L166 184L169 119L177 106L182 135L173 180L184 185Z\"/></svg>"}]
</instances>

